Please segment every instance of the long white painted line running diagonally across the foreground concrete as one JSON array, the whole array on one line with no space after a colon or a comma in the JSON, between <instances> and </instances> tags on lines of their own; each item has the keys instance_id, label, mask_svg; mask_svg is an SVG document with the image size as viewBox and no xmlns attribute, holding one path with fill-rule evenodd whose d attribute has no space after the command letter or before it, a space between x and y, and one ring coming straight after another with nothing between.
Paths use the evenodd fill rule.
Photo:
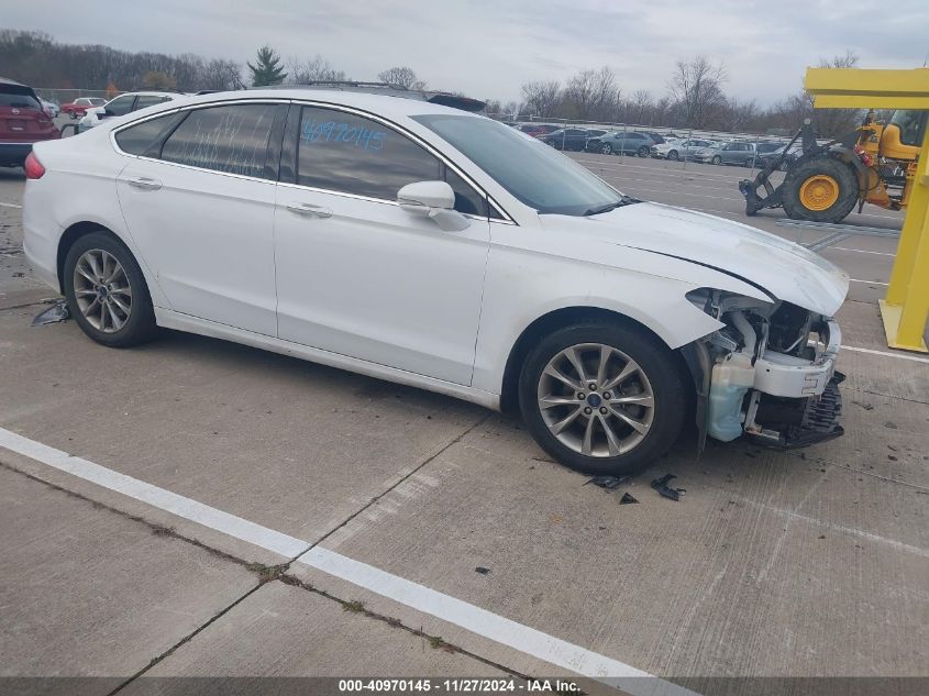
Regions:
<instances>
[{"instance_id":1,"label":"long white painted line running diagonally across the foreground concrete","mask_svg":"<svg viewBox=\"0 0 929 696\"><path fill-rule=\"evenodd\" d=\"M308 541L250 522L88 460L71 456L67 452L3 428L0 428L0 446L234 539L247 541L286 557L299 556L298 563L340 577L353 585L460 626L539 660L572 670L582 676L618 686L632 696L699 696L695 692L637 670L624 662L568 643L322 546L311 549L312 544Z\"/></svg>"}]
</instances>

